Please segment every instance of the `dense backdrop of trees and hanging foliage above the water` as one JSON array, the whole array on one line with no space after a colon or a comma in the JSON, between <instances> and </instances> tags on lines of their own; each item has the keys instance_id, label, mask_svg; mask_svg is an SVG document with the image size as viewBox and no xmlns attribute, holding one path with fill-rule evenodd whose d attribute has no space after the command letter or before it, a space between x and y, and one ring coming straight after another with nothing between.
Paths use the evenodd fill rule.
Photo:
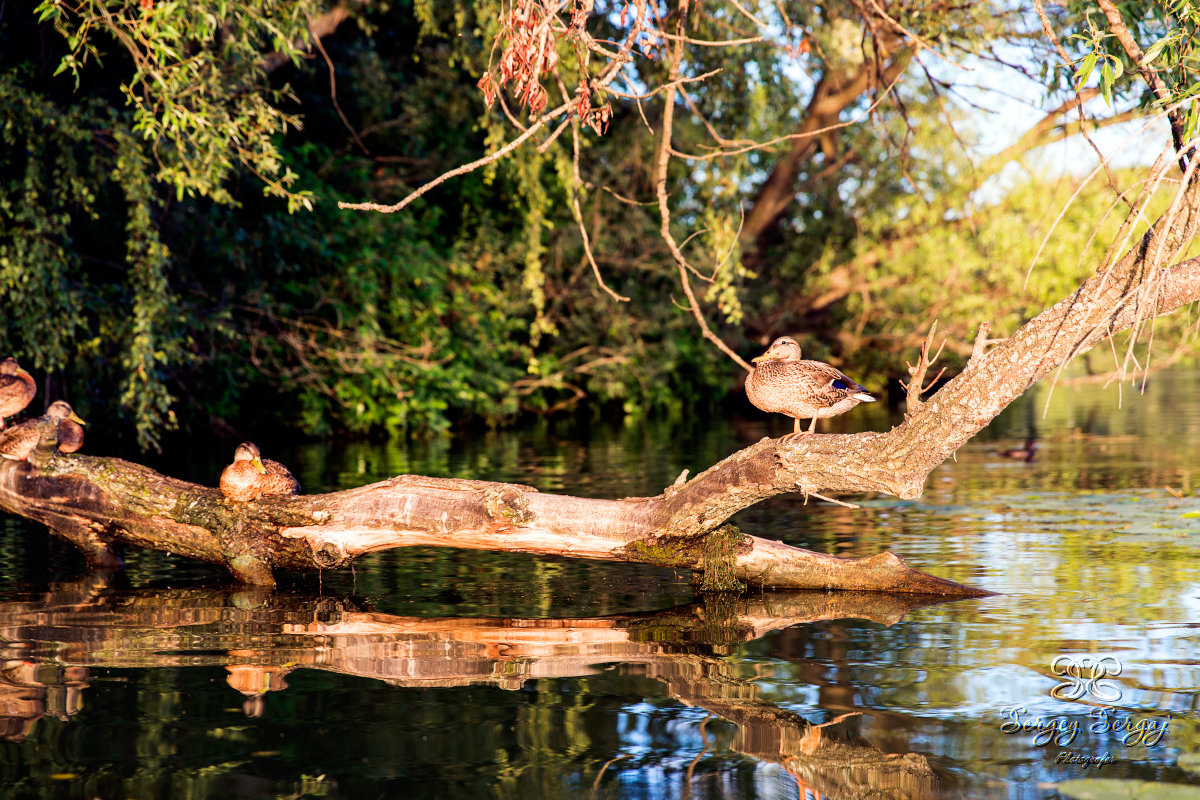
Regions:
<instances>
[{"instance_id":1,"label":"dense backdrop of trees and hanging foliage above the water","mask_svg":"<svg viewBox=\"0 0 1200 800\"><path fill-rule=\"evenodd\" d=\"M1182 0L0 14L0 349L143 447L694 408L782 333L878 391L932 319L961 363L1111 264L1193 168ZM992 72L1050 110L988 154ZM1154 168L1010 168L1156 116Z\"/></svg>"}]
</instances>

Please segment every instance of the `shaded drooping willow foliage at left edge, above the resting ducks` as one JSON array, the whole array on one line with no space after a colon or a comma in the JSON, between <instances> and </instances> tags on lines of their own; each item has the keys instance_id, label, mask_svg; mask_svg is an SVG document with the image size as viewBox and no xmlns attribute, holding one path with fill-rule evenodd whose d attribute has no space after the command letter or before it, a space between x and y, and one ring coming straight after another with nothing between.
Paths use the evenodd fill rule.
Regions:
<instances>
[{"instance_id":1,"label":"shaded drooping willow foliage at left edge, above the resting ducks","mask_svg":"<svg viewBox=\"0 0 1200 800\"><path fill-rule=\"evenodd\" d=\"M0 347L46 372L74 366L86 373L88 360L115 356L120 404L139 444L156 447L160 429L173 422L166 372L185 353L146 156L101 103L64 112L10 73L0 77L0 104L8 109L0 133L8 154L0 173L0 303L7 319ZM104 212L113 207L127 215L124 241L102 239ZM97 266L107 272L107 258L121 249L121 279L97 281L84 263L84 254L103 254Z\"/></svg>"}]
</instances>

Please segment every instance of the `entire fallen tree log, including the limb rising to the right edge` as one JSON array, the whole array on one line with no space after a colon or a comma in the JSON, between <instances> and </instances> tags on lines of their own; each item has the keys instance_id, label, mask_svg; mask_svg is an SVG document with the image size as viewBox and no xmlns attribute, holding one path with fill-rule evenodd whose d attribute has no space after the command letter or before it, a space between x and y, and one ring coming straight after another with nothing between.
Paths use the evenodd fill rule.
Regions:
<instances>
[{"instance_id":1,"label":"entire fallen tree log, including the limb rising to the right edge","mask_svg":"<svg viewBox=\"0 0 1200 800\"><path fill-rule=\"evenodd\" d=\"M226 500L217 489L138 464L55 452L43 422L29 462L0 465L0 509L37 519L114 566L116 542L227 567L274 584L274 570L328 570L392 547L437 545L614 559L692 570L712 590L744 585L986 594L910 570L892 553L842 559L748 536L730 517L784 493L919 497L929 473L1039 378L1114 331L1200 300L1200 259L1152 267L1196 228L1192 192L1165 233L1084 282L994 349L980 330L966 368L928 401L928 353L912 371L908 414L887 433L762 440L658 497L602 500L528 486L402 475L344 492Z\"/></svg>"}]
</instances>

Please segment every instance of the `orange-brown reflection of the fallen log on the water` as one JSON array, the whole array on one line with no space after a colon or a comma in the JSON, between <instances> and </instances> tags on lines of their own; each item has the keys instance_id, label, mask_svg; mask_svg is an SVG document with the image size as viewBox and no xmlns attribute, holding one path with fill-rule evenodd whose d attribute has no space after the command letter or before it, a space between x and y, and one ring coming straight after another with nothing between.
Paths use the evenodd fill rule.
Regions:
<instances>
[{"instance_id":1,"label":"orange-brown reflection of the fallen log on the water","mask_svg":"<svg viewBox=\"0 0 1200 800\"><path fill-rule=\"evenodd\" d=\"M664 612L576 619L416 618L346 599L263 589L109 591L102 573L36 600L0 603L0 736L19 740L46 714L82 706L91 667L223 666L245 710L287 688L298 668L395 686L491 684L595 674L619 663L679 702L738 727L734 748L784 765L824 798L936 794L924 757L887 754L856 738L854 714L815 726L763 700L722 654L770 631L830 619L886 625L944 597L881 593L773 593ZM845 720L851 722L845 722Z\"/></svg>"}]
</instances>

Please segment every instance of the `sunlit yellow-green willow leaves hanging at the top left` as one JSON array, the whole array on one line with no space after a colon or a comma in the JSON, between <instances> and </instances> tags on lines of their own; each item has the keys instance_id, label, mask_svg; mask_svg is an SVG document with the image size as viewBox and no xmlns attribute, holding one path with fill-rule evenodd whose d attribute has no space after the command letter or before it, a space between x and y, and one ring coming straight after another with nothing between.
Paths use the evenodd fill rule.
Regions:
<instances>
[{"instance_id":1,"label":"sunlit yellow-green willow leaves hanging at the top left","mask_svg":"<svg viewBox=\"0 0 1200 800\"><path fill-rule=\"evenodd\" d=\"M124 49L131 70L120 92L133 109L132 130L180 199L232 201L224 184L240 167L295 211L311 209L313 198L290 190L298 176L274 138L299 128L300 119L286 110L294 100L288 86L271 86L268 72L271 59L299 62L308 20L326 10L313 0L43 0L36 11L67 40L55 74L70 72L77 88L102 48Z\"/></svg>"}]
</instances>

